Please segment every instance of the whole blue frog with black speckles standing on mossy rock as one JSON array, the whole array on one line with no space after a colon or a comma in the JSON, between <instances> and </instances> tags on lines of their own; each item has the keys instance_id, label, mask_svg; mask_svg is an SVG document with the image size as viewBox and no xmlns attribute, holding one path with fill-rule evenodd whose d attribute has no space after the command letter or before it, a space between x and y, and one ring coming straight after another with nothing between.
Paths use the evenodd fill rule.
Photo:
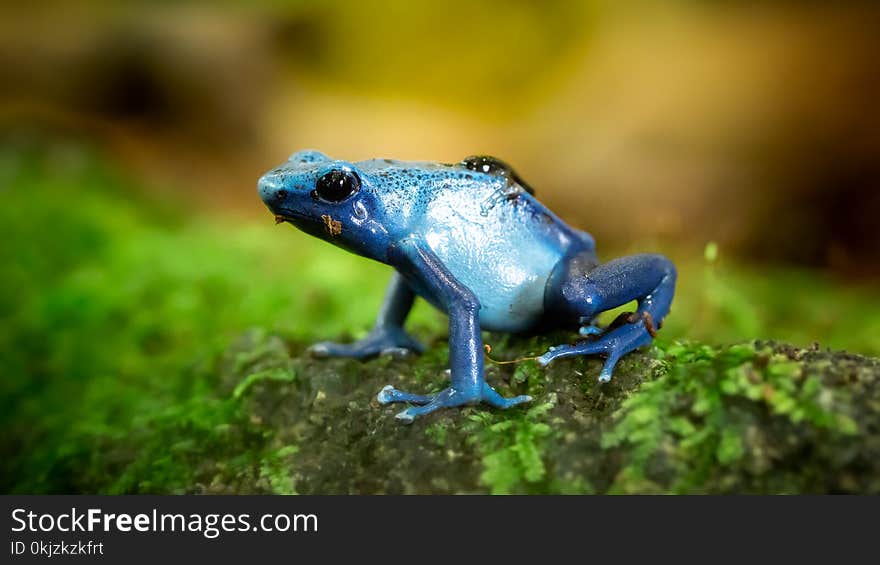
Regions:
<instances>
[{"instance_id":1,"label":"whole blue frog with black speckles standing on mossy rock","mask_svg":"<svg viewBox=\"0 0 880 565\"><path fill-rule=\"evenodd\" d=\"M349 163L300 151L259 180L260 197L276 220L397 271L367 337L318 343L315 354L363 359L421 352L403 329L415 297L448 314L451 386L420 395L389 385L378 394L382 404L415 405L397 414L407 423L443 407L485 402L509 408L531 400L504 398L486 383L480 330L580 326L588 339L552 347L538 362L604 355L599 380L606 382L621 356L651 342L672 302L676 271L668 259L633 255L600 265L593 238L563 223L512 170L473 168L389 159ZM359 189L339 202L322 199L316 183L328 173L355 175ZM604 329L593 325L600 312L632 300L636 313Z\"/></svg>"}]
</instances>

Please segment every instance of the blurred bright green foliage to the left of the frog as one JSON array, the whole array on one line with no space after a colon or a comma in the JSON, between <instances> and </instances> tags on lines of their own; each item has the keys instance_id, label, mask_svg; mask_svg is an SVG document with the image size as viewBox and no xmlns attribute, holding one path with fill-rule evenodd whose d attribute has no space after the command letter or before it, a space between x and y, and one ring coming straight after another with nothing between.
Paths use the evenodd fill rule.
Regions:
<instances>
[{"instance_id":1,"label":"blurred bright green foliage to the left of the frog","mask_svg":"<svg viewBox=\"0 0 880 565\"><path fill-rule=\"evenodd\" d=\"M184 221L191 210L137 196L98 160L74 161L5 162L0 489L175 491L199 452L260 457L259 438L226 433L241 414L217 390L219 355L248 326L357 336L386 275L346 254L300 253L268 218ZM302 284L317 280L331 284ZM163 457L130 460L142 450ZM130 483L145 475L156 484Z\"/></svg>"}]
</instances>

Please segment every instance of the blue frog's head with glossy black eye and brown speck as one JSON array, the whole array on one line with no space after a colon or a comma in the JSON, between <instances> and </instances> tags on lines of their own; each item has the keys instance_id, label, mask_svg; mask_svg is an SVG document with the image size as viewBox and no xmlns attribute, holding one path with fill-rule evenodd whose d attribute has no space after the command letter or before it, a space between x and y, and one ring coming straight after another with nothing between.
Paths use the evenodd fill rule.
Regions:
<instances>
[{"instance_id":1,"label":"blue frog's head with glossy black eye and brown speck","mask_svg":"<svg viewBox=\"0 0 880 565\"><path fill-rule=\"evenodd\" d=\"M362 171L319 151L299 151L263 175L260 198L302 231L360 255L381 259L388 234L375 217L376 196Z\"/></svg>"}]
</instances>

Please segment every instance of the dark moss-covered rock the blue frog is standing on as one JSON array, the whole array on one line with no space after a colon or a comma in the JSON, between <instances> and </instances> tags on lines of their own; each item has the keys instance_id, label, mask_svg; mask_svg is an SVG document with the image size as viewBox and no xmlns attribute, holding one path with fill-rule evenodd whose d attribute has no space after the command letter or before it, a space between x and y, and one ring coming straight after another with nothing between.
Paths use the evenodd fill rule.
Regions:
<instances>
[{"instance_id":1,"label":"dark moss-covered rock the blue frog is standing on","mask_svg":"<svg viewBox=\"0 0 880 565\"><path fill-rule=\"evenodd\" d=\"M564 340L487 335L505 359ZM291 492L880 492L877 359L769 341L660 342L625 357L607 384L598 359L487 362L490 384L533 403L402 425L402 406L380 406L376 393L444 387L448 344L429 345L421 357L313 359L306 344L252 331L227 352L222 386L262 430L251 435L288 446L269 474ZM222 475L205 490L273 490L266 473L261 483Z\"/></svg>"}]
</instances>

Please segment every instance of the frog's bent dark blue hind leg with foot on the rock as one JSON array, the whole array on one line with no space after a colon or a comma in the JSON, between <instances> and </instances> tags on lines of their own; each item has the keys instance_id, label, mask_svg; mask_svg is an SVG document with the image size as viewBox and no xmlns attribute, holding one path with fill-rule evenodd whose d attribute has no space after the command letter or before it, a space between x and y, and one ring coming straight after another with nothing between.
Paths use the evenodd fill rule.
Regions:
<instances>
[{"instance_id":1,"label":"frog's bent dark blue hind leg with foot on the rock","mask_svg":"<svg viewBox=\"0 0 880 565\"><path fill-rule=\"evenodd\" d=\"M592 319L632 300L638 301L638 308L621 314L591 340L550 348L538 362L547 365L572 355L605 355L599 380L609 381L622 356L653 340L669 314L675 279L675 266L662 255L622 257L589 270L578 268L575 260L562 265L549 281L547 302L551 310Z\"/></svg>"}]
</instances>

